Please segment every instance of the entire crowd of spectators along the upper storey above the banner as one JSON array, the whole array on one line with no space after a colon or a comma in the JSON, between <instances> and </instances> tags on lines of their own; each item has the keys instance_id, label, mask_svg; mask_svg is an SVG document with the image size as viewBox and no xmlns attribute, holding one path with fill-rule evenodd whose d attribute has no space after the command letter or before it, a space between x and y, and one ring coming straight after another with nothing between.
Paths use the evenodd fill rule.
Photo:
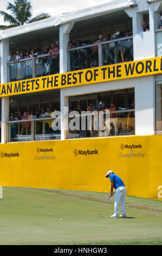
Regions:
<instances>
[{"instance_id":1,"label":"entire crowd of spectators along the upper storey above the banner","mask_svg":"<svg viewBox=\"0 0 162 256\"><path fill-rule=\"evenodd\" d=\"M143 32L149 31L150 26L146 21L141 23ZM162 28L162 15L160 16L160 28ZM102 45L102 59L103 65L114 64L119 62L125 62L128 60L133 60L133 40L120 40L127 36L132 36L132 28L123 32L117 31L116 33L99 35L98 39L91 39L90 44L98 44L104 41L111 41L119 39L119 41L109 42ZM80 46L86 46L89 42L80 41L74 44L72 41L69 41L68 48L76 48ZM99 56L98 56L98 46L92 46L87 48L82 48L79 50L74 50L71 52L71 69L79 70L85 68L93 68L99 65ZM36 58L35 61L35 76L45 76L53 75L59 73L59 41L57 40L51 44L51 46L45 46L44 49L31 48L30 51L27 50L18 50L16 52L10 51L8 56L8 62L10 64L10 81L23 80L33 77L33 62L30 58L40 57L44 54L49 56ZM19 60L28 59L24 62L19 62ZM15 62L15 63L14 63Z\"/></svg>"}]
</instances>

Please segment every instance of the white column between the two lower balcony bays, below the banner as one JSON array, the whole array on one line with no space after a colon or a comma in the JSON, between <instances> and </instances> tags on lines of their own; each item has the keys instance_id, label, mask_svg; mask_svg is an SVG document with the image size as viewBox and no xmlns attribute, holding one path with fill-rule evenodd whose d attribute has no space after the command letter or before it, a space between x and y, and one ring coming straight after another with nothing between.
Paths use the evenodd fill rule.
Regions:
<instances>
[{"instance_id":1,"label":"white column between the two lower balcony bays, below the banner","mask_svg":"<svg viewBox=\"0 0 162 256\"><path fill-rule=\"evenodd\" d=\"M61 140L67 138L67 130L68 130L68 110L69 110L69 97L64 96L63 93L60 92L61 98Z\"/></svg>"}]
</instances>

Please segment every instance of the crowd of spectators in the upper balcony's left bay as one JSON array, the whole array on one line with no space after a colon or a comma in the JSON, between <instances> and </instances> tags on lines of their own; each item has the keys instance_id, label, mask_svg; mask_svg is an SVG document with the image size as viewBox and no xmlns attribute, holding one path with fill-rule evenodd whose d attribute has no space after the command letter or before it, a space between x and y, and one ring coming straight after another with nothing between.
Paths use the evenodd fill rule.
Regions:
<instances>
[{"instance_id":1,"label":"crowd of spectators in the upper balcony's left bay","mask_svg":"<svg viewBox=\"0 0 162 256\"><path fill-rule=\"evenodd\" d=\"M46 56L43 56L44 54L46 54ZM36 58L35 68L33 66L32 58ZM23 61L23 59L26 60ZM40 48L37 48L36 50L31 48L30 52L27 50L16 52L10 51L8 62L11 62L11 81L32 78L33 68L35 69L36 77L57 74L59 73L59 41L57 40L55 44L51 44L51 47L45 46L44 49L41 50Z\"/></svg>"}]
</instances>

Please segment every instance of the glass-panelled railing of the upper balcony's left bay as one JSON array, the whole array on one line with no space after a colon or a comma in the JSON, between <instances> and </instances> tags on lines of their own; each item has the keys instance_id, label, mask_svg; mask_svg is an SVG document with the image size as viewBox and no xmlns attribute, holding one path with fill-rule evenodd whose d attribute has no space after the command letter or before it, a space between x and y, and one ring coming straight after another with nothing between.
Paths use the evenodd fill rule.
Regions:
<instances>
[{"instance_id":1,"label":"glass-panelled railing of the upper balcony's left bay","mask_svg":"<svg viewBox=\"0 0 162 256\"><path fill-rule=\"evenodd\" d=\"M54 58L55 56L55 58ZM8 82L25 80L59 73L57 53L8 62Z\"/></svg>"}]
</instances>

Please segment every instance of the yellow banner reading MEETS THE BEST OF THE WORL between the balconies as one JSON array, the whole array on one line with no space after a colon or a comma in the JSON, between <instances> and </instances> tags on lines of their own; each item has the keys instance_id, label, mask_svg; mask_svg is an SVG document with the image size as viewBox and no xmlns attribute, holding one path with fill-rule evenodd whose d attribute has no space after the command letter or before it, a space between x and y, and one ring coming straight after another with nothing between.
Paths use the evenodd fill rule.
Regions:
<instances>
[{"instance_id":1,"label":"yellow banner reading MEETS THE BEST OF THE WORL between the balconies","mask_svg":"<svg viewBox=\"0 0 162 256\"><path fill-rule=\"evenodd\" d=\"M124 62L114 65L77 70L64 74L37 77L1 84L0 96L42 92L44 90L108 82L125 78L162 73L162 57Z\"/></svg>"}]
</instances>

